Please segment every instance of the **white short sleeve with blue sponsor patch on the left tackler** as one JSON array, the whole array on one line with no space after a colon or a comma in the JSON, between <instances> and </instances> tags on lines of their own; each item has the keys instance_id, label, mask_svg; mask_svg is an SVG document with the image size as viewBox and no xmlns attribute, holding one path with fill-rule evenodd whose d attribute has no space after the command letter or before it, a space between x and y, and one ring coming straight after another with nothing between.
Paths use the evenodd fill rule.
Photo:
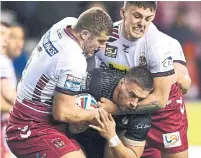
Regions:
<instances>
[{"instance_id":1,"label":"white short sleeve with blue sponsor patch on the left tackler","mask_svg":"<svg viewBox=\"0 0 201 158\"><path fill-rule=\"evenodd\" d=\"M86 69L86 59L81 52L61 55L57 65L57 76L59 79L56 90L61 93L80 92Z\"/></svg>"}]
</instances>

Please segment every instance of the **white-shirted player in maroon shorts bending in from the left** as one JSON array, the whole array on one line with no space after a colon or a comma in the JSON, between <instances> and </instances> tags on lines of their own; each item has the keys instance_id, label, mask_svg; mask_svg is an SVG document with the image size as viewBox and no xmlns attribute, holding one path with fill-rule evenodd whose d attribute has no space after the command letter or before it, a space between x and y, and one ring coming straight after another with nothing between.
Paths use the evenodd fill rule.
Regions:
<instances>
[{"instance_id":1,"label":"white-shirted player in maroon shorts bending in from the left","mask_svg":"<svg viewBox=\"0 0 201 158\"><path fill-rule=\"evenodd\" d=\"M41 38L27 63L10 112L7 143L17 157L85 157L65 135L66 123L91 122L98 110L75 103L85 75L86 57L105 46L112 32L110 16L100 8L65 18Z\"/></svg>"}]
</instances>

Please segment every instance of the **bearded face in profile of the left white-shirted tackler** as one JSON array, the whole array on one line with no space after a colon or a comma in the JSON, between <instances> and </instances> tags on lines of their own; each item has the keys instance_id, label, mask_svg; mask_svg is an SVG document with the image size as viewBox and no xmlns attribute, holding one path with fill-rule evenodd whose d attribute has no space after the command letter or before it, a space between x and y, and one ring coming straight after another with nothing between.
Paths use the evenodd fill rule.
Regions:
<instances>
[{"instance_id":1,"label":"bearded face in profile of the left white-shirted tackler","mask_svg":"<svg viewBox=\"0 0 201 158\"><path fill-rule=\"evenodd\" d=\"M97 50L105 48L108 39L109 36L105 32L100 33L99 36L91 35L85 43L87 57L93 56Z\"/></svg>"}]
</instances>

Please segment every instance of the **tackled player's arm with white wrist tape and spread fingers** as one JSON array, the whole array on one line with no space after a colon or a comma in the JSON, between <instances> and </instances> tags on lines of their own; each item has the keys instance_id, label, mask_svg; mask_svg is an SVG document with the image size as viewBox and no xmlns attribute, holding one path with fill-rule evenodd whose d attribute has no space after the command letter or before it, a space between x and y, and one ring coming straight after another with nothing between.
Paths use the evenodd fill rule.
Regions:
<instances>
[{"instance_id":1,"label":"tackled player's arm with white wrist tape and spread fingers","mask_svg":"<svg viewBox=\"0 0 201 158\"><path fill-rule=\"evenodd\" d=\"M100 134L107 139L105 157L111 158L139 158L144 150L145 138L150 128L151 117L148 118L148 124L143 124L141 128L141 123L135 118L133 123L128 126L128 131L126 133L122 131L121 133L116 133L115 131L115 121L111 114L104 115L100 112L99 126L90 125L91 128L99 131ZM141 118L138 118L141 119ZM147 121L146 119L144 119ZM144 121L143 120L143 121ZM132 122L132 121L130 121ZM136 122L138 124L136 124ZM146 126L146 127L145 127ZM139 128L139 129L136 129ZM141 131L143 130L143 132ZM133 139L134 138L134 139Z\"/></svg>"}]
</instances>

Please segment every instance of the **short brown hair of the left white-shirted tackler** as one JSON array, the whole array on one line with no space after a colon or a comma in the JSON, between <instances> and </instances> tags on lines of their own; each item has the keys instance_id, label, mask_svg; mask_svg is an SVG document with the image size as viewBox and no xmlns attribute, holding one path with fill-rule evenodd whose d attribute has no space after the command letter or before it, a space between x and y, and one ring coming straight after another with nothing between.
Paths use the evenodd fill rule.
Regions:
<instances>
[{"instance_id":1,"label":"short brown hair of the left white-shirted tackler","mask_svg":"<svg viewBox=\"0 0 201 158\"><path fill-rule=\"evenodd\" d=\"M110 35L113 30L113 21L103 9L93 7L83 12L75 26L77 31L88 30L96 35L106 31Z\"/></svg>"}]
</instances>

